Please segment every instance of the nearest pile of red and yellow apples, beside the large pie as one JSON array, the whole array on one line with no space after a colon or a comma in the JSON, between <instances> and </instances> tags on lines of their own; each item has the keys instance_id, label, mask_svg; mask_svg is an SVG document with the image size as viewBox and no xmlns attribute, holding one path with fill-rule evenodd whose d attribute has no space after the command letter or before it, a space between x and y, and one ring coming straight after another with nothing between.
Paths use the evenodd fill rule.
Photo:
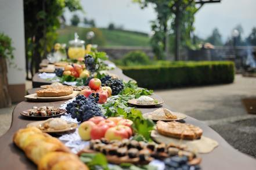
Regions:
<instances>
[{"instance_id":1,"label":"nearest pile of red and yellow apples, beside the large pie","mask_svg":"<svg viewBox=\"0 0 256 170\"><path fill-rule=\"evenodd\" d=\"M82 122L78 133L82 140L102 139L122 140L132 136L132 121L121 117L104 119L97 116Z\"/></svg>"}]
</instances>

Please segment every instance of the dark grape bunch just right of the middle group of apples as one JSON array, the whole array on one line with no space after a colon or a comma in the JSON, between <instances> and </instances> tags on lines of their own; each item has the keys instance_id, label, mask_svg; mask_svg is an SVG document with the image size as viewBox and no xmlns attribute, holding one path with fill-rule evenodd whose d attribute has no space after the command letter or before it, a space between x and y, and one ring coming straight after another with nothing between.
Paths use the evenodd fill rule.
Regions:
<instances>
[{"instance_id":1,"label":"dark grape bunch just right of the middle group of apples","mask_svg":"<svg viewBox=\"0 0 256 170\"><path fill-rule=\"evenodd\" d=\"M102 86L110 86L112 89L112 95L118 95L124 89L124 84L122 81L117 78L109 78L104 83L102 82Z\"/></svg>"}]
</instances>

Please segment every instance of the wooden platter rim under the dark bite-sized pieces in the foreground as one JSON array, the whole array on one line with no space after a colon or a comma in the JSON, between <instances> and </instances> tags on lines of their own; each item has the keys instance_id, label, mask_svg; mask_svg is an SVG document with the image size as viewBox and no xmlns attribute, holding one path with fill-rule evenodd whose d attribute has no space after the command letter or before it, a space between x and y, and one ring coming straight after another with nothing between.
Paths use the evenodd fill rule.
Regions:
<instances>
[{"instance_id":1,"label":"wooden platter rim under the dark bite-sized pieces in the foreground","mask_svg":"<svg viewBox=\"0 0 256 170\"><path fill-rule=\"evenodd\" d=\"M80 156L82 153L97 153L94 150L85 148L83 150L81 150L80 152L78 152L78 156ZM148 161L139 161L139 158L129 158L128 155L124 156L124 157L118 157L117 155L106 155L107 158L107 162L109 162L110 164L123 164L123 163L129 163L129 164L136 164L136 165L147 165L149 164L149 162L151 162L154 158L150 157L150 159Z\"/></svg>"}]
</instances>

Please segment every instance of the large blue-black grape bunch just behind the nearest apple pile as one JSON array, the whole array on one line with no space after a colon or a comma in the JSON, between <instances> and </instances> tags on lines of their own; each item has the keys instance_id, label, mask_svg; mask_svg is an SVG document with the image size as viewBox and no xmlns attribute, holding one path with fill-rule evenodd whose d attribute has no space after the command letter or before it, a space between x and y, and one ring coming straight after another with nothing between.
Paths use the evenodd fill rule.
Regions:
<instances>
[{"instance_id":1,"label":"large blue-black grape bunch just behind the nearest apple pile","mask_svg":"<svg viewBox=\"0 0 256 170\"><path fill-rule=\"evenodd\" d=\"M98 101L99 93L92 93L88 98L78 95L73 102L67 104L67 114L71 114L71 118L77 118L78 122L88 121L95 116L104 117Z\"/></svg>"}]
</instances>

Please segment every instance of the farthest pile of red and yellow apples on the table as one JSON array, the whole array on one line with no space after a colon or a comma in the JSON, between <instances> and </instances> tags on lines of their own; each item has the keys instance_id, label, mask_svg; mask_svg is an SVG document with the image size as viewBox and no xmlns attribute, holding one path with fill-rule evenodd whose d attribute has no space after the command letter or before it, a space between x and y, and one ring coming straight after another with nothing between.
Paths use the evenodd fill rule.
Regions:
<instances>
[{"instance_id":1,"label":"farthest pile of red and yellow apples on the table","mask_svg":"<svg viewBox=\"0 0 256 170\"><path fill-rule=\"evenodd\" d=\"M73 64L72 65L67 65L64 67L63 75L71 75L75 78L88 78L90 76L90 73L88 70L84 70L85 65L80 65L80 64Z\"/></svg>"}]
</instances>

